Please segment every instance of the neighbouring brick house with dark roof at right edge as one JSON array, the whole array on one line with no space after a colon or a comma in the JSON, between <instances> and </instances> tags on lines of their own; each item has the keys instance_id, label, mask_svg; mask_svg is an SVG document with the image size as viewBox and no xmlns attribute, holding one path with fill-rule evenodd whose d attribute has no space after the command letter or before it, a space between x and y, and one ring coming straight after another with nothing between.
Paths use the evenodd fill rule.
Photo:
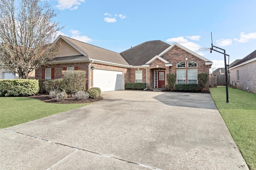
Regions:
<instances>
[{"instance_id":1,"label":"neighbouring brick house with dark roof at right edge","mask_svg":"<svg viewBox=\"0 0 256 170\"><path fill-rule=\"evenodd\" d=\"M229 66L230 87L256 93L256 50Z\"/></svg>"}]
</instances>

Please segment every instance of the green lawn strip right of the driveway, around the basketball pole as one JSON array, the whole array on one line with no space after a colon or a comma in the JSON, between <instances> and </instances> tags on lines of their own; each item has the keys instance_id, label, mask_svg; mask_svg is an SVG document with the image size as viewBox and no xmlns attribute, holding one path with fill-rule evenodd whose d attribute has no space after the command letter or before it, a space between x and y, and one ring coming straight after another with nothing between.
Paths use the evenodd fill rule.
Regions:
<instances>
[{"instance_id":1,"label":"green lawn strip right of the driveway, around the basketball pole","mask_svg":"<svg viewBox=\"0 0 256 170\"><path fill-rule=\"evenodd\" d=\"M228 88L227 104L225 87L210 92L248 167L256 170L256 94Z\"/></svg>"}]
</instances>

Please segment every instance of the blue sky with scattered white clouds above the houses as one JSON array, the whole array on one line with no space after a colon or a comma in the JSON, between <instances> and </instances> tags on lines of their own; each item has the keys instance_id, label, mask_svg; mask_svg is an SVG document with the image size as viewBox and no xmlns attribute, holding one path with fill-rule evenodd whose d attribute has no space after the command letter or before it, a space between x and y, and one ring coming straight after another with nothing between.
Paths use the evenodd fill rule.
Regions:
<instances>
[{"instance_id":1,"label":"blue sky with scattered white clouds above the houses","mask_svg":"<svg viewBox=\"0 0 256 170\"><path fill-rule=\"evenodd\" d=\"M224 67L256 50L255 0L49 0L65 25L60 34L122 52L145 41L179 43Z\"/></svg>"}]
</instances>

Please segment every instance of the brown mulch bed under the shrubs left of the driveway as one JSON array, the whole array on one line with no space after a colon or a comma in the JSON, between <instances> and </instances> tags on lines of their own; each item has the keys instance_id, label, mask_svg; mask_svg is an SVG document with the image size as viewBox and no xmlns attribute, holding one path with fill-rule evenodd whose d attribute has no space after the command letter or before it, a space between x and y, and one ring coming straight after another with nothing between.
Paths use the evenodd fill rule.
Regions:
<instances>
[{"instance_id":1,"label":"brown mulch bed under the shrubs left of the driveway","mask_svg":"<svg viewBox=\"0 0 256 170\"><path fill-rule=\"evenodd\" d=\"M28 98L38 99L42 100L43 102L47 103L56 103L56 104L81 104L81 103L91 103L91 102L98 102L102 100L103 98L99 96L98 98L88 98L88 100L76 100L75 97L70 97L68 95L68 98L66 100L62 100L60 102L57 102L54 98L49 98L49 94L36 94L34 96L29 96Z\"/></svg>"}]
</instances>

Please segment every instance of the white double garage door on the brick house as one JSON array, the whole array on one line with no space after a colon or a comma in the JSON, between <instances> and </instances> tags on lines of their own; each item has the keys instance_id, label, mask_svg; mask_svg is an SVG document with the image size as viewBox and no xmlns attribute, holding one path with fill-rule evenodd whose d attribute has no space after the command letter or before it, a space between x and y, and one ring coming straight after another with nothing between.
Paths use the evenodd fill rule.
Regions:
<instances>
[{"instance_id":1,"label":"white double garage door on the brick house","mask_svg":"<svg viewBox=\"0 0 256 170\"><path fill-rule=\"evenodd\" d=\"M122 71L93 70L93 86L99 87L102 92L123 90L124 80Z\"/></svg>"}]
</instances>

